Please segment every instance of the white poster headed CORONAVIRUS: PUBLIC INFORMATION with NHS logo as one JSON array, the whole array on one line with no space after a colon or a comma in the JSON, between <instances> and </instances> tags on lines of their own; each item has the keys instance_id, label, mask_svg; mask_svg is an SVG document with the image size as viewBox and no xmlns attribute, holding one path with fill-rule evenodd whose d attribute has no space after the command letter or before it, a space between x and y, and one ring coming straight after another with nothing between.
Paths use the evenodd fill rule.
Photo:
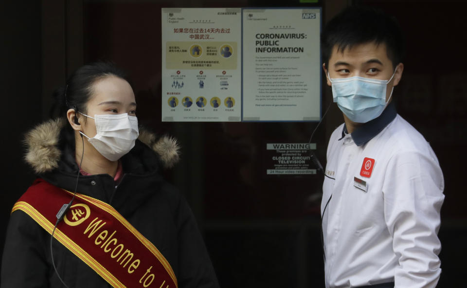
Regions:
<instances>
[{"instance_id":1,"label":"white poster headed CORONAVIRUS: PUBLIC INFORMATION with NHS logo","mask_svg":"<svg viewBox=\"0 0 467 288\"><path fill-rule=\"evenodd\" d=\"M320 120L320 9L242 14L243 121Z\"/></svg>"}]
</instances>

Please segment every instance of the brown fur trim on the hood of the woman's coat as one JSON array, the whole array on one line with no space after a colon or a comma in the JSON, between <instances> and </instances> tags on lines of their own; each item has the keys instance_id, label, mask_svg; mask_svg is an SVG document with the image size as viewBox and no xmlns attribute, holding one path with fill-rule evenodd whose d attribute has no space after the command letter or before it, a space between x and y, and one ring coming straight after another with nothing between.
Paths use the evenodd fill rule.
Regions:
<instances>
[{"instance_id":1,"label":"brown fur trim on the hood of the woman's coat","mask_svg":"<svg viewBox=\"0 0 467 288\"><path fill-rule=\"evenodd\" d=\"M26 133L24 158L36 174L50 172L59 166L62 156L59 136L65 124L64 119L49 120ZM180 159L180 147L174 138L169 136L158 138L155 134L140 128L138 140L156 152L164 168L173 167Z\"/></svg>"}]
</instances>

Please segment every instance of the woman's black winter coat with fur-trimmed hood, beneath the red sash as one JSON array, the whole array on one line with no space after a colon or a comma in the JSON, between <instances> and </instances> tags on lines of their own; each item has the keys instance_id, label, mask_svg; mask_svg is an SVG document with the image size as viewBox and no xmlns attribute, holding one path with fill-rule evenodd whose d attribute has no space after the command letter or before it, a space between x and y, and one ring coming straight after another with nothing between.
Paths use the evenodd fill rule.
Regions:
<instances>
[{"instance_id":1,"label":"woman's black winter coat with fur-trimmed hood, beneath the red sash","mask_svg":"<svg viewBox=\"0 0 467 288\"><path fill-rule=\"evenodd\" d=\"M30 132L26 159L47 182L74 191L78 167L71 149L60 148L58 131L62 126L61 121L50 121ZM52 147L51 135L57 138ZM153 135L141 135L159 154L137 140L121 159L125 174L117 187L107 174L80 176L78 192L110 204L151 241L172 266L179 288L216 288L216 275L193 213L160 174L161 159L172 164L178 147L171 139L155 143ZM45 144L49 146L44 148ZM58 212L60 207L52 209ZM50 234L23 211L13 212L3 252L1 287L64 287L52 266L50 239ZM52 249L58 274L69 288L111 287L58 241L53 241Z\"/></svg>"}]
</instances>

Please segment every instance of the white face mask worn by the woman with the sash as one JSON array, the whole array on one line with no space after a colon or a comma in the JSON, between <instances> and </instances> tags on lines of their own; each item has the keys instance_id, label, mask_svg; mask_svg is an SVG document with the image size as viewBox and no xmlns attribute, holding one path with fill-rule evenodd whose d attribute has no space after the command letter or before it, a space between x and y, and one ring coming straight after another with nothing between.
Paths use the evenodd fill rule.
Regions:
<instances>
[{"instance_id":1,"label":"white face mask worn by the woman with the sash","mask_svg":"<svg viewBox=\"0 0 467 288\"><path fill-rule=\"evenodd\" d=\"M138 138L138 118L124 114L103 114L88 116L94 119L96 124L96 136L89 138L83 132L81 135L88 138L88 141L96 150L110 161L119 160L128 153L134 146Z\"/></svg>"}]
</instances>

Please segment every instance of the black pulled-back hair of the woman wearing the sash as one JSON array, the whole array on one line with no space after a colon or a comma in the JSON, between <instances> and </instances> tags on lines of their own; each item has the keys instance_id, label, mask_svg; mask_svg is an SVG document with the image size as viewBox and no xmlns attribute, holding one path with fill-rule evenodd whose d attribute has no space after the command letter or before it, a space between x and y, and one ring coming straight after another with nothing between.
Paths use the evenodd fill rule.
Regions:
<instances>
[{"instance_id":1,"label":"black pulled-back hair of the woman wearing the sash","mask_svg":"<svg viewBox=\"0 0 467 288\"><path fill-rule=\"evenodd\" d=\"M87 103L93 92L93 85L103 78L114 76L126 80L126 73L110 62L95 62L76 69L66 82L66 85L54 92L55 105L51 111L58 111L59 117L65 117L69 109L75 112L87 113ZM77 118L75 118L75 123ZM60 142L70 145L74 150L74 130L67 123L60 133Z\"/></svg>"}]
</instances>

